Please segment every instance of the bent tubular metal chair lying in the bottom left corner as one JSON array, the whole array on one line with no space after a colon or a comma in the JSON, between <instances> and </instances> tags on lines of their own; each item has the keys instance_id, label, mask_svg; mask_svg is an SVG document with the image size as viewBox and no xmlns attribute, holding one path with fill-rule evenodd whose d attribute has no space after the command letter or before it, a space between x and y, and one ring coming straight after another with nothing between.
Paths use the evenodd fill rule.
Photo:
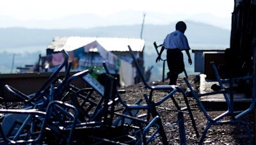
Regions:
<instances>
[{"instance_id":1,"label":"bent tubular metal chair lying in the bottom left corner","mask_svg":"<svg viewBox=\"0 0 256 145\"><path fill-rule=\"evenodd\" d=\"M0 113L8 113L0 125L0 134L6 143L10 142L11 144L39 143L45 135L46 127L58 133L60 133L59 127L64 127L64 130L68 129L69 134L65 138L65 144L70 144L78 115L76 107L60 101L52 101L46 112L37 111L36 109L0 109ZM23 124L16 125L19 124L19 121ZM13 127L19 129L19 131L14 130ZM28 127L31 128L28 129ZM10 132L15 136L13 137ZM28 135L31 135L31 137L28 137Z\"/></svg>"}]
</instances>

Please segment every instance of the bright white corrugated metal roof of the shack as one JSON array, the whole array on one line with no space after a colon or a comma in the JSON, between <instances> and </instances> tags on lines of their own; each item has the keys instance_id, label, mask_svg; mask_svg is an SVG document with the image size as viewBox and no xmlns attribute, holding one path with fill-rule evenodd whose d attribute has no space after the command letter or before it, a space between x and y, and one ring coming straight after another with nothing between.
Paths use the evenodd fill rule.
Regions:
<instances>
[{"instance_id":1,"label":"bright white corrugated metal roof of the shack","mask_svg":"<svg viewBox=\"0 0 256 145\"><path fill-rule=\"evenodd\" d=\"M97 41L109 52L129 52L128 45L131 46L134 52L142 52L145 41L143 39L134 38L89 38L89 37L56 37L47 48L54 49L54 51L72 51L88 45L93 41Z\"/></svg>"}]
</instances>

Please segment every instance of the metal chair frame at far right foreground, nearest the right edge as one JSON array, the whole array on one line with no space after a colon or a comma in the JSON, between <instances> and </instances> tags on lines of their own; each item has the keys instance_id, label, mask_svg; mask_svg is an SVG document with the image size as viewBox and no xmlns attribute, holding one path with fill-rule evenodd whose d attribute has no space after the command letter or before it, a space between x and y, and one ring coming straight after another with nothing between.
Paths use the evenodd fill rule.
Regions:
<instances>
[{"instance_id":1,"label":"metal chair frame at far right foreground, nearest the right edge","mask_svg":"<svg viewBox=\"0 0 256 145\"><path fill-rule=\"evenodd\" d=\"M211 66L212 66L212 69L214 69L216 79L220 85L220 90L213 91L213 92L207 92L207 93L196 93L195 90L193 89L193 87L190 85L188 79L184 78L191 94L195 98L196 102L198 103L198 106L200 107L200 110L202 111L202 113L204 113L204 116L207 119L207 125L204 129L204 132L203 132L198 144L202 144L204 142L207 131L209 130L209 128L211 128L212 125L226 125L226 124L233 124L233 123L241 123L241 125L244 125L246 127L246 132L248 133L248 136L250 138L250 142L253 142L250 128L248 127L246 122L241 120L241 117L252 112L252 110L255 106L255 95L256 95L255 91L256 90L255 90L255 88L252 90L252 100L251 100L250 107L248 107L248 109L245 109L244 111L236 113L233 108L233 101L234 101L233 95L235 92L232 91L233 90L232 87L233 87L234 81L247 80L247 79L252 80L253 87L255 87L256 86L255 76L244 76L244 77L239 77L239 78L231 78L231 79L222 80L220 78L218 70L216 69L216 66L214 65L213 62L211 63ZM223 83L230 83L230 88L225 88L223 86ZM231 92L230 92L230 90L231 90ZM227 104L227 110L225 111L225 113L221 113L218 116L216 116L215 118L212 118L212 116L209 113L207 113L207 109L205 109L204 105L202 104L200 97L207 96L207 95L215 95L215 94L223 94L226 104ZM230 119L226 119L226 117L229 117Z\"/></svg>"}]
</instances>

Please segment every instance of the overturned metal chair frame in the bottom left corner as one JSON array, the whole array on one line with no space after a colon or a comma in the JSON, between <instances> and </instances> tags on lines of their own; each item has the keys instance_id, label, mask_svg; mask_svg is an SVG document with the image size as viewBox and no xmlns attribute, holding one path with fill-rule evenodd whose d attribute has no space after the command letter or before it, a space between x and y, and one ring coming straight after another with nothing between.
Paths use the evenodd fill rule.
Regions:
<instances>
[{"instance_id":1,"label":"overturned metal chair frame in the bottom left corner","mask_svg":"<svg viewBox=\"0 0 256 145\"><path fill-rule=\"evenodd\" d=\"M70 109L73 113L67 111ZM22 125L12 124L12 121L1 123L1 142L6 144L29 144L43 141L50 144L51 140L58 141L60 144L70 144L78 113L74 106L60 101L50 102L45 112L36 109L0 109L0 112L7 113L6 115L18 114L21 118L24 115L28 116L24 120L26 123ZM18 119L16 118L15 121ZM64 130L68 130L67 135L63 134Z\"/></svg>"}]
</instances>

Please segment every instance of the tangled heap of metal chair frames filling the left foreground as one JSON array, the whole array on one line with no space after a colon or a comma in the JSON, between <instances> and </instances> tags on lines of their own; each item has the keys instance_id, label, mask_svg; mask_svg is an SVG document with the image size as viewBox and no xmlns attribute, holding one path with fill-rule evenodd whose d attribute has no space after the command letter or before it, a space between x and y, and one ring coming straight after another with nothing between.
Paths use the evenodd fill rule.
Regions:
<instances>
[{"instance_id":1,"label":"tangled heap of metal chair frames filling the left foreground","mask_svg":"<svg viewBox=\"0 0 256 145\"><path fill-rule=\"evenodd\" d=\"M154 112L146 96L148 104L140 105L141 100L133 105L125 104L116 90L115 78L106 76L108 83L102 86L88 70L71 76L67 52L63 53L65 61L37 92L25 95L12 86L5 86L26 107L0 109L4 113L1 117L0 142L148 144L161 135L163 143L168 144L161 118ZM58 73L63 67L66 67L66 73L61 80ZM72 85L75 79L82 79L90 87L77 88ZM116 109L118 104L122 104L124 111ZM145 121L136 116L138 110L142 109L150 110L154 116L152 120ZM151 134L152 130L154 132Z\"/></svg>"}]
</instances>

